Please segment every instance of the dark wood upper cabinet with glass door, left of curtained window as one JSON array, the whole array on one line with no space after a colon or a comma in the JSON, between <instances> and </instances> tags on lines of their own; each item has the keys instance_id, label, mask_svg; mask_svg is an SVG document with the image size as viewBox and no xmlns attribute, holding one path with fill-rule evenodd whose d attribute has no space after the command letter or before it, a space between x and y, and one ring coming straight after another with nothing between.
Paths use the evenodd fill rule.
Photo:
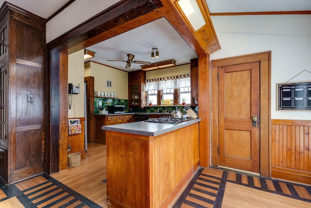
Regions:
<instances>
[{"instance_id":1,"label":"dark wood upper cabinet with glass door, left of curtained window","mask_svg":"<svg viewBox=\"0 0 311 208\"><path fill-rule=\"evenodd\" d=\"M129 106L140 106L145 103L145 79L146 72L142 70L128 73L128 99Z\"/></svg>"}]
</instances>

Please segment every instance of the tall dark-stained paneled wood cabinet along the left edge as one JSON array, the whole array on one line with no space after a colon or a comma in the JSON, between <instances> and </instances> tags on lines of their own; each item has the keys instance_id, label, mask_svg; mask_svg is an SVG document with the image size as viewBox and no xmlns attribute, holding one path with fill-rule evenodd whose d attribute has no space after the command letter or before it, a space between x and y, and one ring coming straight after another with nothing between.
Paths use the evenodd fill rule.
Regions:
<instances>
[{"instance_id":1,"label":"tall dark-stained paneled wood cabinet along the left edge","mask_svg":"<svg viewBox=\"0 0 311 208\"><path fill-rule=\"evenodd\" d=\"M46 20L8 2L0 9L0 178L44 172ZM3 160L3 161L2 161Z\"/></svg>"}]
</instances>

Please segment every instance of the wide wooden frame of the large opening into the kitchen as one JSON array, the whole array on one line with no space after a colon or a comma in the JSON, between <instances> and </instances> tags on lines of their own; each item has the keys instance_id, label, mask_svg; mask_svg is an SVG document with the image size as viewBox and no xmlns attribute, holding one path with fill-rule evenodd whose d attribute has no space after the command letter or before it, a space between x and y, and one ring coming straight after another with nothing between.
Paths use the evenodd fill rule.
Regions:
<instances>
[{"instance_id":1,"label":"wide wooden frame of the large opening into the kitchen","mask_svg":"<svg viewBox=\"0 0 311 208\"><path fill-rule=\"evenodd\" d=\"M48 174L67 170L68 55L159 18L167 19L199 56L200 165L209 164L209 54L220 49L205 1L207 24L195 33L171 0L121 0L47 43ZM202 38L208 37L208 38Z\"/></svg>"}]
</instances>

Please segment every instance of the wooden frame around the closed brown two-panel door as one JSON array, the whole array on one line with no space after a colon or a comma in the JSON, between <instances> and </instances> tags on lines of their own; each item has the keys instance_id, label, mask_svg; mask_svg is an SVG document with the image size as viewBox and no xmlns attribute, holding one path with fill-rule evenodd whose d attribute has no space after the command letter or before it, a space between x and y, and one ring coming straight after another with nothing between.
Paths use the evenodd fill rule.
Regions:
<instances>
[{"instance_id":1,"label":"wooden frame around the closed brown two-panel door","mask_svg":"<svg viewBox=\"0 0 311 208\"><path fill-rule=\"evenodd\" d=\"M218 167L218 67L259 61L260 130L259 171L271 177L271 51L212 60L211 63L211 166Z\"/></svg>"}]
</instances>

